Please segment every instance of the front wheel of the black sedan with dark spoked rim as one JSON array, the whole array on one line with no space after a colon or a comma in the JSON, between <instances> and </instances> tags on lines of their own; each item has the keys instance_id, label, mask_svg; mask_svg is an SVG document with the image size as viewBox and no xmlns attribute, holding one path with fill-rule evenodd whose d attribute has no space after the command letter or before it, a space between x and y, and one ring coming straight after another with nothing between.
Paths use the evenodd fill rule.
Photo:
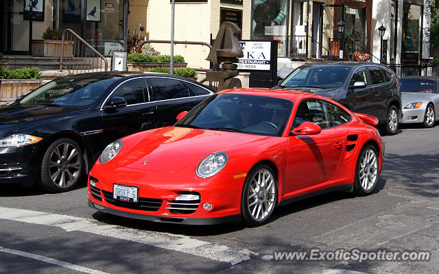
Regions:
<instances>
[{"instance_id":1,"label":"front wheel of the black sedan with dark spoked rim","mask_svg":"<svg viewBox=\"0 0 439 274\"><path fill-rule=\"evenodd\" d=\"M62 138L53 142L41 162L40 186L49 192L66 192L75 188L84 175L80 146Z\"/></svg>"}]
</instances>

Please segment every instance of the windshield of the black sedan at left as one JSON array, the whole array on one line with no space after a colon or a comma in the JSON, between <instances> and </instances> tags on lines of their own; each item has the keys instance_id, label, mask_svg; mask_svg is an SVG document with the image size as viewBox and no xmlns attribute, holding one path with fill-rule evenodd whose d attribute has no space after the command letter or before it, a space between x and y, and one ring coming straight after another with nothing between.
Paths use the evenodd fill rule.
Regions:
<instances>
[{"instance_id":1,"label":"windshield of the black sedan at left","mask_svg":"<svg viewBox=\"0 0 439 274\"><path fill-rule=\"evenodd\" d=\"M62 77L37 88L19 103L87 107L96 103L117 79L119 77Z\"/></svg>"}]
</instances>

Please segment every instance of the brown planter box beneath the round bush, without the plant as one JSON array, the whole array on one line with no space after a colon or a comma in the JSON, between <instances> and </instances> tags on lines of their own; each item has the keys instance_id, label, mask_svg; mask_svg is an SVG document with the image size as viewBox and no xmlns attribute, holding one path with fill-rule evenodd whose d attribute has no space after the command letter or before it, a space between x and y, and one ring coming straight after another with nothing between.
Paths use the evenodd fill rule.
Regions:
<instances>
[{"instance_id":1,"label":"brown planter box beneath the round bush, without the plant","mask_svg":"<svg viewBox=\"0 0 439 274\"><path fill-rule=\"evenodd\" d=\"M73 41L64 41L64 57L73 57ZM60 40L32 40L32 56L61 57Z\"/></svg>"}]
</instances>

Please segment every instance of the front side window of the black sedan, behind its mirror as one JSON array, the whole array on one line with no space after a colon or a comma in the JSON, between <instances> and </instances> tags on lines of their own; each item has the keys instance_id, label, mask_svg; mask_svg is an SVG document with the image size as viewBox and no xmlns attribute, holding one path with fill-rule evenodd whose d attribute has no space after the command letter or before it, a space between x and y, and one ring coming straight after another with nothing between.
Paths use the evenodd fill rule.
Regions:
<instances>
[{"instance_id":1,"label":"front side window of the black sedan, behind its mirror","mask_svg":"<svg viewBox=\"0 0 439 274\"><path fill-rule=\"evenodd\" d=\"M144 77L131 79L121 84L121 86L112 93L111 97L123 97L126 99L128 105L150 101Z\"/></svg>"}]
</instances>

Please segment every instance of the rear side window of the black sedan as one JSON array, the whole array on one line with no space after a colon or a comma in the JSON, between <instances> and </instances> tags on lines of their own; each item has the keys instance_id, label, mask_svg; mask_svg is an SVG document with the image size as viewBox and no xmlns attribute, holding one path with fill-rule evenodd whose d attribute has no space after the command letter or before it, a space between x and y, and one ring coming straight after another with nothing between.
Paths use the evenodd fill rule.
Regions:
<instances>
[{"instance_id":1,"label":"rear side window of the black sedan","mask_svg":"<svg viewBox=\"0 0 439 274\"><path fill-rule=\"evenodd\" d=\"M148 78L156 91L156 100L167 100L189 97L189 88L177 79L151 77Z\"/></svg>"}]
</instances>

